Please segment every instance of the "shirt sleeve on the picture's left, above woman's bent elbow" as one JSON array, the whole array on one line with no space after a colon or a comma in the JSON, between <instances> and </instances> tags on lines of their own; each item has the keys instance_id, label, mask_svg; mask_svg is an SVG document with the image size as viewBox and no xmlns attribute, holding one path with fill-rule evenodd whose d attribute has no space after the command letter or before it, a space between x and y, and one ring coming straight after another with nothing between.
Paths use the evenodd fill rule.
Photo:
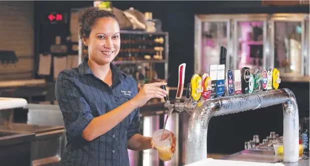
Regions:
<instances>
[{"instance_id":1,"label":"shirt sleeve on the picture's left, above woman's bent elbow","mask_svg":"<svg viewBox=\"0 0 310 166\"><path fill-rule=\"evenodd\" d=\"M80 136L94 117L91 114L90 106L74 84L74 76L68 71L59 73L55 85L55 95L68 134L72 137Z\"/></svg>"}]
</instances>

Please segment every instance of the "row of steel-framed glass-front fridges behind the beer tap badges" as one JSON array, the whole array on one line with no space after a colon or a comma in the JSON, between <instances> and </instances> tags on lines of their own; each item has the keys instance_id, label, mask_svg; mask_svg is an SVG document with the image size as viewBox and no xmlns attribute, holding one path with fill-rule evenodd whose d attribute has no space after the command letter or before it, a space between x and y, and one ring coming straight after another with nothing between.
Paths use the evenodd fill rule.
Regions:
<instances>
[{"instance_id":1,"label":"row of steel-framed glass-front fridges behind the beer tap badges","mask_svg":"<svg viewBox=\"0 0 310 166\"><path fill-rule=\"evenodd\" d=\"M209 73L227 49L226 69L277 68L281 76L309 75L309 14L195 16L195 73Z\"/></svg>"}]
</instances>

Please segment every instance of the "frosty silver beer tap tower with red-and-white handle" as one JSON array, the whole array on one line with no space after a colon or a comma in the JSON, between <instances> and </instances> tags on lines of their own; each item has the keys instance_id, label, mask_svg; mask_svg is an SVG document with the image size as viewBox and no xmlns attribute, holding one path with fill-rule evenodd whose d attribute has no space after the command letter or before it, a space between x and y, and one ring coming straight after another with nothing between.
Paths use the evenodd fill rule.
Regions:
<instances>
[{"instance_id":1,"label":"frosty silver beer tap tower with red-and-white handle","mask_svg":"<svg viewBox=\"0 0 310 166\"><path fill-rule=\"evenodd\" d=\"M189 83L187 97L184 102L181 102L185 67L186 64L181 64L179 66L179 84L176 102L171 104L168 100L168 96L165 98L165 107L169 109L168 113L176 110L178 113L186 111L190 114L186 136L185 164L200 161L207 157L208 123L212 116L237 113L251 109L254 110L280 103L283 104L284 114L283 161L298 161L298 107L295 96L289 89L277 89L232 96L226 95L215 99L202 99L198 101L194 96L190 97L189 94L190 91L193 90L197 90L198 93L201 93L200 87L195 86L195 89L192 87L193 85Z\"/></svg>"}]
</instances>

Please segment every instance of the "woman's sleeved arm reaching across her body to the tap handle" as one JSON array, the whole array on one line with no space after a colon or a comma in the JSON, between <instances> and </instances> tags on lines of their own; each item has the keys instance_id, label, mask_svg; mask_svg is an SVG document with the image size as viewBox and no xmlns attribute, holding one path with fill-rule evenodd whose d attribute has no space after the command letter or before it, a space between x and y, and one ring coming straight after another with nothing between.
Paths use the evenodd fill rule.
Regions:
<instances>
[{"instance_id":1,"label":"woman's sleeved arm reaching across her body to the tap handle","mask_svg":"<svg viewBox=\"0 0 310 166\"><path fill-rule=\"evenodd\" d=\"M108 113L94 118L90 106L74 84L76 77L78 75L75 75L72 71L59 73L55 86L55 95L63 113L65 127L69 135L72 137L82 135L88 141L112 129L134 109L143 106L149 99L154 97L163 98L163 96L167 95L167 91L158 87L167 83L145 84L133 99Z\"/></svg>"}]
</instances>

